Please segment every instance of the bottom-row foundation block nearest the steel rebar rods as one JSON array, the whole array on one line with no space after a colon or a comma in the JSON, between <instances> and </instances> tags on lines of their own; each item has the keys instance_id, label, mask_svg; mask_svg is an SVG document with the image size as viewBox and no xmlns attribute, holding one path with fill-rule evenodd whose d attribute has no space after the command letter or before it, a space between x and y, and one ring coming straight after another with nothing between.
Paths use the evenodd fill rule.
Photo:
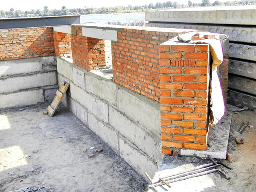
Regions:
<instances>
[{"instance_id":1,"label":"bottom-row foundation block nearest the steel rebar rods","mask_svg":"<svg viewBox=\"0 0 256 192\"><path fill-rule=\"evenodd\" d=\"M145 155L141 154L122 138L119 138L119 148L120 156L123 157L135 171L143 175L145 179L147 179L145 172L147 172L151 178L154 176L154 173L157 171L156 163L145 157Z\"/></svg>"}]
</instances>

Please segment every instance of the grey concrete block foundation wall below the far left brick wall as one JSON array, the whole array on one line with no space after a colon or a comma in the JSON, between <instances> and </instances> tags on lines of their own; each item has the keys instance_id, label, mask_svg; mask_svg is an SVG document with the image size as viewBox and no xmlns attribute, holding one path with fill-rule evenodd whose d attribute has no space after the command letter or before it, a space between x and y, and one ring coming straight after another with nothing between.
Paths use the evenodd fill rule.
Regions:
<instances>
[{"instance_id":1,"label":"grey concrete block foundation wall below the far left brick wall","mask_svg":"<svg viewBox=\"0 0 256 192\"><path fill-rule=\"evenodd\" d=\"M55 56L0 61L0 108L51 102L56 70Z\"/></svg>"}]
</instances>

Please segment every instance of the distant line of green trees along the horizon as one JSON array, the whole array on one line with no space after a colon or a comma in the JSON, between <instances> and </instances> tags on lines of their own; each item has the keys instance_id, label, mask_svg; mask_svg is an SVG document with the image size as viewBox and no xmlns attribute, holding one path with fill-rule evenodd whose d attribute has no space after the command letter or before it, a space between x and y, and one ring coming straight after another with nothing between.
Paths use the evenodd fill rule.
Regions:
<instances>
[{"instance_id":1,"label":"distant line of green trees along the horizon","mask_svg":"<svg viewBox=\"0 0 256 192\"><path fill-rule=\"evenodd\" d=\"M201 6L237 6L237 5L254 5L256 0L241 0L241 1L227 1L219 2L216 0L214 3L209 3L209 0L202 0L202 3L193 3L191 0L188 1L188 5L180 5L177 2L167 1L164 3L150 3L143 6L115 6L115 7L101 7L93 8L75 8L67 9L62 6L62 9L49 10L47 6L44 6L43 10L32 9L30 11L20 11L10 9L10 11L0 11L0 18L14 18L14 17L42 17L42 16L58 16L58 15L87 15L87 14L103 14L103 13L129 13L129 12L146 12L163 9L178 9L186 7L201 7Z\"/></svg>"}]
</instances>

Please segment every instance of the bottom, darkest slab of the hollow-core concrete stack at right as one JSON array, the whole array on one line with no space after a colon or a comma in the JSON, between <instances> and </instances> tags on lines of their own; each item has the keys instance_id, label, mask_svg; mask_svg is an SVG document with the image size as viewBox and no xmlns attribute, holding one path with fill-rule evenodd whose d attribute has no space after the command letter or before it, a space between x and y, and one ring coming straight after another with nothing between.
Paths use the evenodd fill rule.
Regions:
<instances>
[{"instance_id":1,"label":"bottom, darkest slab of the hollow-core concrete stack at right","mask_svg":"<svg viewBox=\"0 0 256 192\"><path fill-rule=\"evenodd\" d=\"M227 90L227 102L230 105L241 104L243 107L246 106L252 111L256 109L256 96L239 93L238 91Z\"/></svg>"}]
</instances>

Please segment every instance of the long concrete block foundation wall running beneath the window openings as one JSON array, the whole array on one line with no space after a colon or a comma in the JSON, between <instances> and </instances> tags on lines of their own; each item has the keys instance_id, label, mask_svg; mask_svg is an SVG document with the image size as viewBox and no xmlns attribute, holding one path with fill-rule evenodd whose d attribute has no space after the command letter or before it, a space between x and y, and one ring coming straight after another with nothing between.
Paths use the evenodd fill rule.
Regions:
<instances>
[{"instance_id":1,"label":"long concrete block foundation wall running beneath the window openings","mask_svg":"<svg viewBox=\"0 0 256 192\"><path fill-rule=\"evenodd\" d=\"M57 57L62 102L137 172L153 176L161 160L160 103Z\"/></svg>"}]
</instances>

